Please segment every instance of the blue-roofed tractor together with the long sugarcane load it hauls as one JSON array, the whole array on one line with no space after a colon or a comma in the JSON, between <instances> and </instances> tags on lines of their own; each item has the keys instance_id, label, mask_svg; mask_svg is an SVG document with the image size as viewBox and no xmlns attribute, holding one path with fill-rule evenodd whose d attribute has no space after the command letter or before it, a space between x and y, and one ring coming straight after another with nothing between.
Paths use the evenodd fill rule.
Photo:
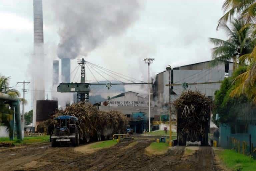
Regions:
<instances>
[{"instance_id":1,"label":"blue-roofed tractor together with the long sugarcane load it hauls","mask_svg":"<svg viewBox=\"0 0 256 171\"><path fill-rule=\"evenodd\" d=\"M112 139L115 133L125 133L126 117L118 111L99 111L88 103L76 103L64 111L58 110L47 122L52 146Z\"/></svg>"}]
</instances>

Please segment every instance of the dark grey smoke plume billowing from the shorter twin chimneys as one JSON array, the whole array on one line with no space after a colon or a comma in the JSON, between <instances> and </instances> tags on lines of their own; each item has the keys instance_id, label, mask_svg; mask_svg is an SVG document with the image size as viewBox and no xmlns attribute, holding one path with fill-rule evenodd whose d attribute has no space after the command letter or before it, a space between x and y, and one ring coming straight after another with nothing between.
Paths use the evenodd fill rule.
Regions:
<instances>
[{"instance_id":1,"label":"dark grey smoke plume billowing from the shorter twin chimneys","mask_svg":"<svg viewBox=\"0 0 256 171\"><path fill-rule=\"evenodd\" d=\"M59 58L86 55L111 36L123 33L138 17L138 0L54 0L60 24Z\"/></svg>"}]
</instances>

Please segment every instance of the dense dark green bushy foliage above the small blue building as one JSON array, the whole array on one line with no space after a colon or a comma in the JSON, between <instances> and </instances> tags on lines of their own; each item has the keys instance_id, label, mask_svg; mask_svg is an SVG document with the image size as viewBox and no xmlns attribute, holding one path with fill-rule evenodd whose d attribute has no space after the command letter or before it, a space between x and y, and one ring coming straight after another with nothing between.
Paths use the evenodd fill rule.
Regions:
<instances>
[{"instance_id":1,"label":"dense dark green bushy foliage above the small blue building","mask_svg":"<svg viewBox=\"0 0 256 171\"><path fill-rule=\"evenodd\" d=\"M238 67L232 77L225 78L220 86L220 89L215 92L213 122L219 126L220 123L233 123L238 118L246 119L252 113L252 105L245 95L240 97L230 97L230 92L234 90L236 85L235 78L244 73L247 67ZM220 119L215 121L216 114L219 114Z\"/></svg>"}]
</instances>

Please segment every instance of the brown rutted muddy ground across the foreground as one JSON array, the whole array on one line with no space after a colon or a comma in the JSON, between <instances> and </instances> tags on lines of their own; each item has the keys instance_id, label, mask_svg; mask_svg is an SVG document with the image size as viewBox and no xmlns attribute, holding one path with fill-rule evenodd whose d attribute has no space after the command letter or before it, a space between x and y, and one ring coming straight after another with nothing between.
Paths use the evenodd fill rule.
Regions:
<instances>
[{"instance_id":1,"label":"brown rutted muddy ground across the foreground","mask_svg":"<svg viewBox=\"0 0 256 171\"><path fill-rule=\"evenodd\" d=\"M187 147L175 146L166 154L152 155L145 152L152 138L134 141L98 151L83 150L83 146L52 148L50 143L0 148L0 170L222 170L211 147L187 152Z\"/></svg>"}]
</instances>

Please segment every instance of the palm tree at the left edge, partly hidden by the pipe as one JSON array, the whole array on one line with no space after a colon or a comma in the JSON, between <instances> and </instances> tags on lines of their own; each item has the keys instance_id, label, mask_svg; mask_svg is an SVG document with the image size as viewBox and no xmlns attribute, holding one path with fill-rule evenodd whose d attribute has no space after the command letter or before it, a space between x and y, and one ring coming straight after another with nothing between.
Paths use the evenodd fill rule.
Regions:
<instances>
[{"instance_id":1,"label":"palm tree at the left edge, partly hidden by the pipe","mask_svg":"<svg viewBox=\"0 0 256 171\"><path fill-rule=\"evenodd\" d=\"M0 75L0 94L8 94L13 97L19 97L20 93L16 89L9 88L9 78ZM0 125L11 129L10 121L12 120L13 111L9 110L9 105L0 99ZM9 131L11 132L11 131Z\"/></svg>"}]
</instances>

